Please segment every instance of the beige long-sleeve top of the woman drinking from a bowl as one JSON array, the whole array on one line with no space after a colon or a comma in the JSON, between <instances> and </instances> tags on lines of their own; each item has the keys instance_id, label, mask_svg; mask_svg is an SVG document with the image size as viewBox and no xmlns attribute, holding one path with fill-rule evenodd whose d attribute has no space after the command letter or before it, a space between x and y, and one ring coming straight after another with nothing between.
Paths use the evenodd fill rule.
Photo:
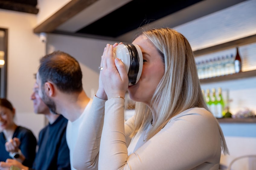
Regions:
<instances>
[{"instance_id":1,"label":"beige long-sleeve top of the woman drinking from a bowl","mask_svg":"<svg viewBox=\"0 0 256 170\"><path fill-rule=\"evenodd\" d=\"M124 100L94 97L81 125L73 165L77 169L217 170L221 139L217 120L203 108L173 117L149 141L151 125L131 140L133 117L124 120ZM103 125L104 124L104 125Z\"/></svg>"}]
</instances>

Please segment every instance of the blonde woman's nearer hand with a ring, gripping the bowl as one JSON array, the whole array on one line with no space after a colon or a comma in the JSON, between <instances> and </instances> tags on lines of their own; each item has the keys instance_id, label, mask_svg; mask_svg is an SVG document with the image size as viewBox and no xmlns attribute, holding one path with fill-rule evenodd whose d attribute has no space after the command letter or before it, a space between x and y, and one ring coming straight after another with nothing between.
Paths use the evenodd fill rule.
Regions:
<instances>
[{"instance_id":1,"label":"blonde woman's nearer hand with a ring, gripping the bowl","mask_svg":"<svg viewBox=\"0 0 256 170\"><path fill-rule=\"evenodd\" d=\"M112 97L124 97L128 89L128 75L123 62L119 58L114 58L113 49L117 46L107 44L101 57L103 70L100 79L107 95L107 99Z\"/></svg>"}]
</instances>

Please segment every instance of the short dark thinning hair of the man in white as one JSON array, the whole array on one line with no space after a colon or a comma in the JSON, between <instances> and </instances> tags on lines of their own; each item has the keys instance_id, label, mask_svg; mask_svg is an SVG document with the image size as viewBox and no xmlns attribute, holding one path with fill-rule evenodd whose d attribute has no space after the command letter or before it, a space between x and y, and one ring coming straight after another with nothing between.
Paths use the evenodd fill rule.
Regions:
<instances>
[{"instance_id":1,"label":"short dark thinning hair of the man in white","mask_svg":"<svg viewBox=\"0 0 256 170\"><path fill-rule=\"evenodd\" d=\"M41 85L51 81L62 92L80 92L83 89L80 65L65 52L54 51L42 57L38 73Z\"/></svg>"}]
</instances>

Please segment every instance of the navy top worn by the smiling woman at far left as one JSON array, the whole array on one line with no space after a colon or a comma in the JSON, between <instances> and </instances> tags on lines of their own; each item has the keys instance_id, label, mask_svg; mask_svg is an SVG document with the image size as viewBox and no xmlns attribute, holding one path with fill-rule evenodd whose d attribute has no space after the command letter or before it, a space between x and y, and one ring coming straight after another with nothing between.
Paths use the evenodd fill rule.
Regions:
<instances>
[{"instance_id":1,"label":"navy top worn by the smiling woman at far left","mask_svg":"<svg viewBox=\"0 0 256 170\"><path fill-rule=\"evenodd\" d=\"M24 162L22 162L23 165L31 167L35 156L36 156L36 147L37 147L37 139L27 128L18 126L13 134L12 138L19 138L21 141L21 144L19 146L19 149L21 150L22 154L25 156ZM9 156L9 152L5 150L5 143L6 138L3 132L0 133L0 161L6 161L6 159L12 159Z\"/></svg>"}]
</instances>

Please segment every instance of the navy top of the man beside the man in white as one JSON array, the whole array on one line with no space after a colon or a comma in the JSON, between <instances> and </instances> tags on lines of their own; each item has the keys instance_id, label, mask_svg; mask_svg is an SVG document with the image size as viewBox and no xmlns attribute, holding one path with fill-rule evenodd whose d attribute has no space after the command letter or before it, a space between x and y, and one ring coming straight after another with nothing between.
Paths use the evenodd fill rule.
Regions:
<instances>
[{"instance_id":1,"label":"navy top of the man beside the man in white","mask_svg":"<svg viewBox=\"0 0 256 170\"><path fill-rule=\"evenodd\" d=\"M69 147L66 141L68 120L60 115L39 133L38 152L33 164L37 170L70 170Z\"/></svg>"}]
</instances>

